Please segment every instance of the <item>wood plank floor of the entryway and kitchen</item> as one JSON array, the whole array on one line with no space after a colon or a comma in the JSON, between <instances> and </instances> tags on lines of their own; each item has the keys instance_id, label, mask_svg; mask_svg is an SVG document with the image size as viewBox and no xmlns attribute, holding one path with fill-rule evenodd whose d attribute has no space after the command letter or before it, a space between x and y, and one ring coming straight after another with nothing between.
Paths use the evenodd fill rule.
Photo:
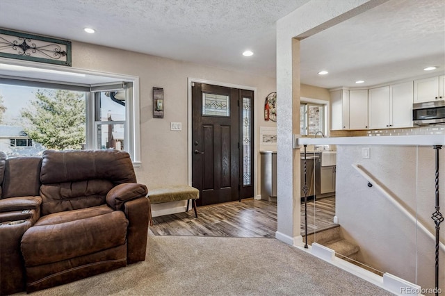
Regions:
<instances>
[{"instance_id":1,"label":"wood plank floor of the entryway and kitchen","mask_svg":"<svg viewBox=\"0 0 445 296\"><path fill-rule=\"evenodd\" d=\"M334 198L333 198L334 199ZM323 201L324 199L321 199ZM332 224L335 201L316 201L316 217L308 215L309 229L320 229ZM318 208L320 204L323 208ZM308 204L308 208L314 208ZM302 206L304 211L304 206ZM193 211L153 217L149 229L156 236L225 236L237 238L275 238L277 231L277 203L264 200L243 199L241 202L228 202L197 208L198 217ZM310 211L308 211L310 213ZM323 215L322 215L323 213ZM329 216L332 213L332 217ZM304 223L304 216L302 221ZM318 221L318 217L322 221ZM302 225L304 229L304 225Z\"/></svg>"}]
</instances>

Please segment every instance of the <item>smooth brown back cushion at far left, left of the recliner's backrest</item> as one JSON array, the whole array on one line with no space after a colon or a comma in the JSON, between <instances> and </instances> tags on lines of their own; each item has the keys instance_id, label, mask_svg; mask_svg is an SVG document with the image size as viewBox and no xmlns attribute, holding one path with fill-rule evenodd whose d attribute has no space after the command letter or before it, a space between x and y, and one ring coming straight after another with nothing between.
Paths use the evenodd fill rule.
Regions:
<instances>
[{"instance_id":1,"label":"smooth brown back cushion at far left, left of the recliner's backrest","mask_svg":"<svg viewBox=\"0 0 445 296\"><path fill-rule=\"evenodd\" d=\"M40 157L8 158L1 198L39 195L41 164Z\"/></svg>"}]
</instances>

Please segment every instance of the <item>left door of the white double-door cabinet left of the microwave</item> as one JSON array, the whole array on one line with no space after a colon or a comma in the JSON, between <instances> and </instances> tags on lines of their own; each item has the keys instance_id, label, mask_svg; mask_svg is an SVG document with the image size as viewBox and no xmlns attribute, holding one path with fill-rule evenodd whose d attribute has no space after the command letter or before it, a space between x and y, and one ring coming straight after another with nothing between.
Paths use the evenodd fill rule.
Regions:
<instances>
[{"instance_id":1,"label":"left door of the white double-door cabinet left of the microwave","mask_svg":"<svg viewBox=\"0 0 445 296\"><path fill-rule=\"evenodd\" d=\"M368 92L369 129L386 129L389 124L389 86Z\"/></svg>"}]
</instances>

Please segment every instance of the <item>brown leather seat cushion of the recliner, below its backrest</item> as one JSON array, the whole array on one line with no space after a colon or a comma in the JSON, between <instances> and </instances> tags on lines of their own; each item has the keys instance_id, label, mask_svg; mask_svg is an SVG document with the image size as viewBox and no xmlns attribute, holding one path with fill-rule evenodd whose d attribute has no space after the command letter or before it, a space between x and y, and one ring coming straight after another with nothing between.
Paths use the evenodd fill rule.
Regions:
<instances>
[{"instance_id":1,"label":"brown leather seat cushion of the recliner, below its backrest","mask_svg":"<svg viewBox=\"0 0 445 296\"><path fill-rule=\"evenodd\" d=\"M59 212L41 217L36 226L54 225L59 223L81 220L90 217L100 216L113 212L113 209L106 204L102 206L93 206L92 208L82 208L80 210Z\"/></svg>"}]
</instances>

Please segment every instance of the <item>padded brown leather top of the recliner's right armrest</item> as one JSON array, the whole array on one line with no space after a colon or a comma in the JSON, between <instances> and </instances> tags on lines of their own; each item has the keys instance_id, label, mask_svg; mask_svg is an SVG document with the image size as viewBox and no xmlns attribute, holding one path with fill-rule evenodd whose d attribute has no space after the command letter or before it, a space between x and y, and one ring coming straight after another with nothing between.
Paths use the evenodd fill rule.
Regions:
<instances>
[{"instance_id":1,"label":"padded brown leather top of the recliner's right armrest","mask_svg":"<svg viewBox=\"0 0 445 296\"><path fill-rule=\"evenodd\" d=\"M122 183L106 195L106 204L115 210L122 210L125 202L147 196L147 186L140 183Z\"/></svg>"}]
</instances>

